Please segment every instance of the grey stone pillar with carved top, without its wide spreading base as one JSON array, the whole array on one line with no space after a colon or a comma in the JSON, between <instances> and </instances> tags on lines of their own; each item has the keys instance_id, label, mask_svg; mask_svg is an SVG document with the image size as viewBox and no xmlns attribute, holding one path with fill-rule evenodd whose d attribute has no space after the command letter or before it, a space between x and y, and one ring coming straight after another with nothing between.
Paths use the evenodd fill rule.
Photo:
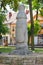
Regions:
<instances>
[{"instance_id":1,"label":"grey stone pillar with carved top, without its wide spreading base","mask_svg":"<svg viewBox=\"0 0 43 65\"><path fill-rule=\"evenodd\" d=\"M17 48L19 47L27 47L27 17L25 14L24 5L19 6L19 12L17 14L17 22L16 22L16 43Z\"/></svg>"}]
</instances>

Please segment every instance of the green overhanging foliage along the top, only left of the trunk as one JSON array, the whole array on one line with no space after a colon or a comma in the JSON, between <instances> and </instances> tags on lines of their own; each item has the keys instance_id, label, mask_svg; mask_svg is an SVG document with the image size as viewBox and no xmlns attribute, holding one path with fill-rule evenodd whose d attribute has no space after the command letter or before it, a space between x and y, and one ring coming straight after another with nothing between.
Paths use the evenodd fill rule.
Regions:
<instances>
[{"instance_id":1,"label":"green overhanging foliage along the top, only left of the trunk","mask_svg":"<svg viewBox=\"0 0 43 65\"><path fill-rule=\"evenodd\" d=\"M10 8L12 8L14 11L17 11L19 2L22 2L24 4L28 4L28 0L2 0L1 1L1 8L4 9L7 4L9 4Z\"/></svg>"}]
</instances>

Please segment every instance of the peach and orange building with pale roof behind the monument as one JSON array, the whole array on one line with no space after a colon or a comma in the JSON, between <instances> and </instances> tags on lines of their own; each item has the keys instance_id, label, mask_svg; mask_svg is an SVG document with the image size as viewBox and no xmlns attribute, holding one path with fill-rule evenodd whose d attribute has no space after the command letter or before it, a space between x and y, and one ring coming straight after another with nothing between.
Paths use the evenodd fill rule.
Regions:
<instances>
[{"instance_id":1,"label":"peach and orange building with pale roof behind the monument","mask_svg":"<svg viewBox=\"0 0 43 65\"><path fill-rule=\"evenodd\" d=\"M9 33L6 35L3 35L3 45L14 45L16 44L16 16L18 12L8 12L6 14L6 21L4 24L6 24L9 27ZM26 15L27 15L27 24L29 24L30 21L30 12L26 10ZM33 10L33 19L36 20L36 11ZM41 26L41 30L38 33L37 38L35 39L37 42L34 42L35 44L43 44L43 17L38 16L39 23ZM34 41L35 41L34 40ZM7 41L7 42L5 42Z\"/></svg>"}]
</instances>

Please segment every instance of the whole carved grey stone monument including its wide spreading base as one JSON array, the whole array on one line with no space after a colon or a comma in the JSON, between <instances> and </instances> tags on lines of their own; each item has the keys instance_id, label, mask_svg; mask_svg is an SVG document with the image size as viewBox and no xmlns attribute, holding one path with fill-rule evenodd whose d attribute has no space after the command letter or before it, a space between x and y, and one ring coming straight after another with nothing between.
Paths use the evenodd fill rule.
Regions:
<instances>
[{"instance_id":1,"label":"whole carved grey stone monument including its wide spreading base","mask_svg":"<svg viewBox=\"0 0 43 65\"><path fill-rule=\"evenodd\" d=\"M11 54L26 55L31 51L28 50L28 36L27 36L27 17L25 14L24 5L19 6L19 12L17 14L16 22L16 50L12 51Z\"/></svg>"}]
</instances>

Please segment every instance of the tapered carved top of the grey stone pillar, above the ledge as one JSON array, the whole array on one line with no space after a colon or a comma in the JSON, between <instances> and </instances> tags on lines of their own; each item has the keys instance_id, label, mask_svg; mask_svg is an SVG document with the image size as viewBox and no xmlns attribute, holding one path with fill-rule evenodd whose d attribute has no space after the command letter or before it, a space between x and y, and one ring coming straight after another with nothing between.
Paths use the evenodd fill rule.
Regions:
<instances>
[{"instance_id":1,"label":"tapered carved top of the grey stone pillar, above the ledge","mask_svg":"<svg viewBox=\"0 0 43 65\"><path fill-rule=\"evenodd\" d=\"M17 19L27 19L27 16L25 14L25 6L23 4L19 5L18 7L18 14L17 14Z\"/></svg>"}]
</instances>

